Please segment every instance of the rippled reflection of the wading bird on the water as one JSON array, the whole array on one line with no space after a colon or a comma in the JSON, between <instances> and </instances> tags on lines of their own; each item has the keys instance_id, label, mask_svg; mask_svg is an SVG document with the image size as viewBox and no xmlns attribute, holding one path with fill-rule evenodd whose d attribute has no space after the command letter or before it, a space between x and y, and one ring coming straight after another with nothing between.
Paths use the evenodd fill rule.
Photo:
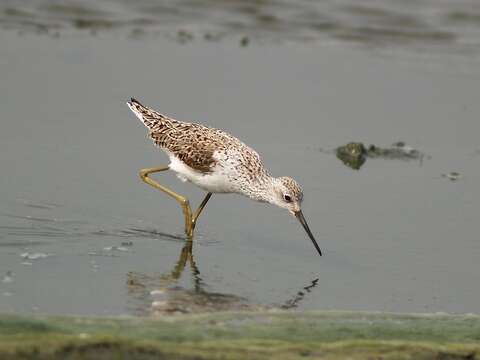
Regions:
<instances>
[{"instance_id":1,"label":"rippled reflection of the wading bird on the water","mask_svg":"<svg viewBox=\"0 0 480 360\"><path fill-rule=\"evenodd\" d=\"M183 246L177 262L170 272L146 275L138 272L127 274L129 295L128 310L135 315L174 315L214 311L262 310L272 307L293 309L317 286L318 279L302 287L292 299L283 305L262 306L249 303L248 299L232 295L209 292L200 277L200 271L192 253L192 241ZM178 285L186 267L190 268L193 289Z\"/></svg>"}]
</instances>

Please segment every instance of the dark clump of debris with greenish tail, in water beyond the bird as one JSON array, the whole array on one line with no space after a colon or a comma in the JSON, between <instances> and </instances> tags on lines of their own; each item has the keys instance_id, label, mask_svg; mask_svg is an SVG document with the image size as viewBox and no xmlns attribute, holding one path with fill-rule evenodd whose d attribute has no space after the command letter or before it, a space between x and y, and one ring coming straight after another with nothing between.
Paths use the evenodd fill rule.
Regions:
<instances>
[{"instance_id":1,"label":"dark clump of debris with greenish tail, in water beyond the bird","mask_svg":"<svg viewBox=\"0 0 480 360\"><path fill-rule=\"evenodd\" d=\"M406 145L403 141L393 143L389 147L379 147L371 144L365 146L361 142L350 142L335 149L337 158L346 166L359 170L367 158L382 158L388 160L417 160L422 162L424 154Z\"/></svg>"}]
</instances>

